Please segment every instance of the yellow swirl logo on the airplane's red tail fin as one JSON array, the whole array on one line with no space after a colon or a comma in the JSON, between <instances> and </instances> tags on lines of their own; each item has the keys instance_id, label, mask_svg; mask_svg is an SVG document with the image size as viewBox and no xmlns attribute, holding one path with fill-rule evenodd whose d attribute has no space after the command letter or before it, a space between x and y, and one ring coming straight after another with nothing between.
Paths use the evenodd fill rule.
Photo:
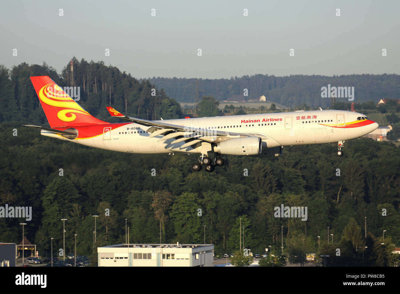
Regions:
<instances>
[{"instance_id":1,"label":"yellow swirl logo on the airplane's red tail fin","mask_svg":"<svg viewBox=\"0 0 400 294\"><path fill-rule=\"evenodd\" d=\"M40 89L38 96L39 99L47 105L66 108L59 110L57 113L57 117L63 122L72 122L75 120L76 115L74 113L90 116L89 112L80 107L78 103L76 103L56 84L47 84L43 86Z\"/></svg>"}]
</instances>

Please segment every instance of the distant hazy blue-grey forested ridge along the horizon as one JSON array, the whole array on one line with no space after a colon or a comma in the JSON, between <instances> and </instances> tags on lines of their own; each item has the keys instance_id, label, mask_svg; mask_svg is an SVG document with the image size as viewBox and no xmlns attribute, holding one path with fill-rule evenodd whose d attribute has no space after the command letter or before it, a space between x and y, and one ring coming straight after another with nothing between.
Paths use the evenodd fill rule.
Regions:
<instances>
[{"instance_id":1,"label":"distant hazy blue-grey forested ridge along the horizon","mask_svg":"<svg viewBox=\"0 0 400 294\"><path fill-rule=\"evenodd\" d=\"M381 98L398 100L400 92L400 76L397 74L340 76L255 74L214 80L160 77L148 78L148 80L164 88L168 96L174 97L179 102L199 102L201 96L214 96L216 100L223 101L228 100L232 95L243 95L244 89L248 89L248 96L244 96L246 101L258 100L264 95L266 100L288 108L304 103L311 107L330 106L330 98L321 98L321 88L327 87L328 84L332 87L354 87L353 102L355 103L370 100L378 103ZM346 98L337 98L338 102L348 102L346 100Z\"/></svg>"}]
</instances>

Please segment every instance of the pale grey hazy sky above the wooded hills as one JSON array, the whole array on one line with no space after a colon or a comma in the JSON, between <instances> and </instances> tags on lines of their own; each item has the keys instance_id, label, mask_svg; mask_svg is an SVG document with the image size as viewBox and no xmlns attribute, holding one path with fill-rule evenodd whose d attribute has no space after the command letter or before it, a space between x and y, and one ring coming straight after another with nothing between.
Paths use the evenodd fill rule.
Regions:
<instances>
[{"instance_id":1,"label":"pale grey hazy sky above the wooded hills","mask_svg":"<svg viewBox=\"0 0 400 294\"><path fill-rule=\"evenodd\" d=\"M60 73L75 56L136 78L399 74L399 11L400 1L366 0L3 0L0 64Z\"/></svg>"}]
</instances>

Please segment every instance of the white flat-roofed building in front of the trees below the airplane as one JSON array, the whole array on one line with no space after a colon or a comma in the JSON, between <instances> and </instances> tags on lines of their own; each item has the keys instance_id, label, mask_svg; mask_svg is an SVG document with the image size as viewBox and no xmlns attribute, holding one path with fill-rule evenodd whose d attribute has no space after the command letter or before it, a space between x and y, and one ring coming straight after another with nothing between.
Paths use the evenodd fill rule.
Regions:
<instances>
[{"instance_id":1,"label":"white flat-roofed building in front of the trees below the airplane","mask_svg":"<svg viewBox=\"0 0 400 294\"><path fill-rule=\"evenodd\" d=\"M118 244L97 253L98 266L214 266L214 244Z\"/></svg>"}]
</instances>

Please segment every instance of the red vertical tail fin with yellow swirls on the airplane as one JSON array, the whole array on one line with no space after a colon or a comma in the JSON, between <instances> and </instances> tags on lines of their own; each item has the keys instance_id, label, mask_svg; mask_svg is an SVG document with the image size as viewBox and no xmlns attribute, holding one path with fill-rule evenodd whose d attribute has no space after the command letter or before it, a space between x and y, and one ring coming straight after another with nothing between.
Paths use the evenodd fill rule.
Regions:
<instances>
[{"instance_id":1,"label":"red vertical tail fin with yellow swirls on the airplane","mask_svg":"<svg viewBox=\"0 0 400 294\"><path fill-rule=\"evenodd\" d=\"M30 80L51 128L107 124L90 115L50 77L31 76ZM72 90L72 87L69 89Z\"/></svg>"}]
</instances>

